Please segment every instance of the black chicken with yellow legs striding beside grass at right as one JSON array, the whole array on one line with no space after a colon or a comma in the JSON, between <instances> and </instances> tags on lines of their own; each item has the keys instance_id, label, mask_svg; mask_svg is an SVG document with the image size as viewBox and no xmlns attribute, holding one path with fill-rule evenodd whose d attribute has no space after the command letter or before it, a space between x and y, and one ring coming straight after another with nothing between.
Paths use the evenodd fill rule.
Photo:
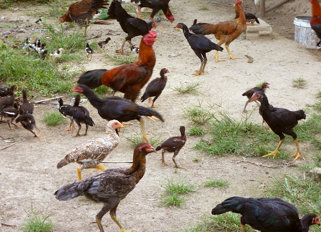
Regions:
<instances>
[{"instance_id":1,"label":"black chicken with yellow legs striding beside grass at right","mask_svg":"<svg viewBox=\"0 0 321 232\"><path fill-rule=\"evenodd\" d=\"M285 139L285 136L283 135L284 133L286 135L292 136L296 145L296 153L291 157L295 157L294 160L302 157L302 159L304 160L303 156L300 153L297 136L292 130L297 125L297 121L305 119L304 111L290 111L284 108L271 107L266 95L260 91L254 92L250 100L258 100L261 102L260 111L262 113L263 120L267 123L267 125L269 125L271 130L280 137L280 142L275 150L273 152L268 151L270 153L263 157L273 156L274 159L276 154L280 154L279 148L281 147L281 144Z\"/></svg>"}]
</instances>

